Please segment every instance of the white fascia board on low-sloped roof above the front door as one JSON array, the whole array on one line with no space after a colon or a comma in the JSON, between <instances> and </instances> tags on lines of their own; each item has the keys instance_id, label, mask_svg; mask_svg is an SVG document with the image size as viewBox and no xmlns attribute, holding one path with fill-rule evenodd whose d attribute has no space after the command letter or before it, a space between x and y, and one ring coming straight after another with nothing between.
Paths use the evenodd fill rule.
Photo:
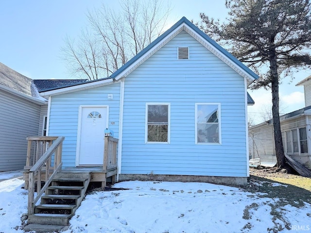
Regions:
<instances>
[{"instance_id":1,"label":"white fascia board on low-sloped roof above the front door","mask_svg":"<svg viewBox=\"0 0 311 233\"><path fill-rule=\"evenodd\" d=\"M86 89L90 89L90 88L94 88L94 87L98 87L98 86L104 86L104 85L108 85L111 83L114 83L113 79L105 79L105 80L101 80L101 81L78 84L78 85L74 85L74 86L59 88L56 90L41 92L40 96L43 96L43 97L56 96L56 95L70 93L70 92L86 90Z\"/></svg>"}]
</instances>

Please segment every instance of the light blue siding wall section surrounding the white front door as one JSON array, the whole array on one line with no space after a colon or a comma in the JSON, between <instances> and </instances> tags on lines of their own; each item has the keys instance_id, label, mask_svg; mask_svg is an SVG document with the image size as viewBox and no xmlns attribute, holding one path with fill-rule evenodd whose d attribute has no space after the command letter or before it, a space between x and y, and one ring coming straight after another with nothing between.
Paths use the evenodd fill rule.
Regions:
<instances>
[{"instance_id":1,"label":"light blue siding wall section surrounding the white front door","mask_svg":"<svg viewBox=\"0 0 311 233\"><path fill-rule=\"evenodd\" d=\"M108 100L108 94L113 94L113 100ZM49 135L65 136L62 154L64 167L75 166L80 105L108 105L109 129L114 131L114 137L118 138L120 83L52 97ZM115 124L110 125L111 122Z\"/></svg>"}]
</instances>

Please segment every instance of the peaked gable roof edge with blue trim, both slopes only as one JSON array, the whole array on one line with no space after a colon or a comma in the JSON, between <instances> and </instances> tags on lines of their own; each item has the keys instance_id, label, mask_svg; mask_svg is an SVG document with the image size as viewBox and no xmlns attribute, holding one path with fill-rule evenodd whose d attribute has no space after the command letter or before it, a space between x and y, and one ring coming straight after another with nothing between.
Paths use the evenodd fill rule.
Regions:
<instances>
[{"instance_id":1,"label":"peaked gable roof edge with blue trim, both slopes only","mask_svg":"<svg viewBox=\"0 0 311 233\"><path fill-rule=\"evenodd\" d=\"M246 78L247 85L259 78L250 68L246 67L236 57L230 54L227 50L222 48L214 40L212 40L206 33L203 33L198 27L191 23L186 17L182 17L177 23L175 23L169 30L161 34L155 41L148 45L145 49L141 50L136 56L114 72L110 78L120 80L126 77L141 63L147 60L157 50L162 48L168 43L175 35L185 30L191 36L193 36L198 42L210 50L214 55L225 62L229 67L237 71L242 77Z\"/></svg>"}]
</instances>

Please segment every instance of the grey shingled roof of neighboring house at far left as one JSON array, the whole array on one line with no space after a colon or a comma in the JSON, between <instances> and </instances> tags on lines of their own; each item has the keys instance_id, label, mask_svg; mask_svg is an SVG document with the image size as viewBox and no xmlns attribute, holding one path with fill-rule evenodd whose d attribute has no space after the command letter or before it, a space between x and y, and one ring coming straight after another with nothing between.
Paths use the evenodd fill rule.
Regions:
<instances>
[{"instance_id":1,"label":"grey shingled roof of neighboring house at far left","mask_svg":"<svg viewBox=\"0 0 311 233\"><path fill-rule=\"evenodd\" d=\"M0 63L0 88L24 99L45 103L33 80Z\"/></svg>"}]
</instances>

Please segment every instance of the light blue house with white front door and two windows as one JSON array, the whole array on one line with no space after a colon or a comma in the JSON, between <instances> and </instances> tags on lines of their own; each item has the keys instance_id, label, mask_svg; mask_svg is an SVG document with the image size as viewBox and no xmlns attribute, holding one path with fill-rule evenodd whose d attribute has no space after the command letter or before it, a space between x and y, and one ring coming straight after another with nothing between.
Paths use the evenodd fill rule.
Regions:
<instances>
[{"instance_id":1,"label":"light blue house with white front door and two windows","mask_svg":"<svg viewBox=\"0 0 311 233\"><path fill-rule=\"evenodd\" d=\"M110 77L40 94L48 135L65 136L64 168L102 166L108 128L119 181L244 184L257 78L183 17Z\"/></svg>"}]
</instances>

